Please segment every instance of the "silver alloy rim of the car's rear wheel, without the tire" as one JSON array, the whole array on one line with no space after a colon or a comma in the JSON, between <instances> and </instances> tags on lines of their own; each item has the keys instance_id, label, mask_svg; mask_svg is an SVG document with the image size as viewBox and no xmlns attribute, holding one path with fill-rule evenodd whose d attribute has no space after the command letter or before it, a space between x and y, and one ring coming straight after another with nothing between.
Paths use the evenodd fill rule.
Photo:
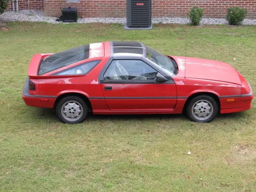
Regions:
<instances>
[{"instance_id":1,"label":"silver alloy rim of the car's rear wheel, without the tire","mask_svg":"<svg viewBox=\"0 0 256 192\"><path fill-rule=\"evenodd\" d=\"M68 101L61 107L62 116L68 121L76 121L83 115L83 107L77 101Z\"/></svg>"}]
</instances>

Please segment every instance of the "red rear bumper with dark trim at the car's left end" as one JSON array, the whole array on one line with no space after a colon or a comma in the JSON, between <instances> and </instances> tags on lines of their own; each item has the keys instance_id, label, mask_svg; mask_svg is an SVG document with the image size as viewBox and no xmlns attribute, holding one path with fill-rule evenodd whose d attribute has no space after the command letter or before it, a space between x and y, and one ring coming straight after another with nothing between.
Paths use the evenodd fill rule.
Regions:
<instances>
[{"instance_id":1,"label":"red rear bumper with dark trim at the car's left end","mask_svg":"<svg viewBox=\"0 0 256 192\"><path fill-rule=\"evenodd\" d=\"M22 98L26 105L33 107L53 108L56 96L31 95L28 92L28 78L26 79Z\"/></svg>"}]
</instances>

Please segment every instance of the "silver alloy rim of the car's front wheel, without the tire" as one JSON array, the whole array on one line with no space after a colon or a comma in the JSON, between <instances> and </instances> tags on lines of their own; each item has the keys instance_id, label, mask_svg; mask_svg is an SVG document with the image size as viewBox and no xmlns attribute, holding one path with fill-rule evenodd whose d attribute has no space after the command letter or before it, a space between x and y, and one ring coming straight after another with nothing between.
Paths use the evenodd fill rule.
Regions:
<instances>
[{"instance_id":1,"label":"silver alloy rim of the car's front wheel, without the tire","mask_svg":"<svg viewBox=\"0 0 256 192\"><path fill-rule=\"evenodd\" d=\"M212 103L208 100L199 100L193 104L191 112L197 120L206 120L212 116Z\"/></svg>"}]
</instances>

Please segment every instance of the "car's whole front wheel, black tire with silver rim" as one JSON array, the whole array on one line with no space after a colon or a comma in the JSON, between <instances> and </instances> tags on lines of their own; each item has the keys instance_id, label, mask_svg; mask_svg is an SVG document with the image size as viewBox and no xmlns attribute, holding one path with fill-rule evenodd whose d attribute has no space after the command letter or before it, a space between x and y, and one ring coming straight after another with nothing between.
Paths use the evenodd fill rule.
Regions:
<instances>
[{"instance_id":1,"label":"car's whole front wheel, black tire with silver rim","mask_svg":"<svg viewBox=\"0 0 256 192\"><path fill-rule=\"evenodd\" d=\"M187 105L186 114L194 122L208 123L218 114L216 100L207 95L192 98Z\"/></svg>"}]
</instances>

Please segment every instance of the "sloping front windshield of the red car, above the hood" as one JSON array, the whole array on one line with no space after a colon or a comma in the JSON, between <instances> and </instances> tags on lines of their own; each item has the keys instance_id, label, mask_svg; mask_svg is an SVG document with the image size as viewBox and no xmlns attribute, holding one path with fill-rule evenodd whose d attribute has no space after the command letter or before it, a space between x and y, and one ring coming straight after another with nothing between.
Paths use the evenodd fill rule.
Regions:
<instances>
[{"instance_id":1,"label":"sloping front windshield of the red car, above the hood","mask_svg":"<svg viewBox=\"0 0 256 192\"><path fill-rule=\"evenodd\" d=\"M164 56L159 52L153 50L152 48L146 47L146 58L160 66L164 69L168 74L174 76L178 73L178 65L174 59L169 58L168 56Z\"/></svg>"}]
</instances>

